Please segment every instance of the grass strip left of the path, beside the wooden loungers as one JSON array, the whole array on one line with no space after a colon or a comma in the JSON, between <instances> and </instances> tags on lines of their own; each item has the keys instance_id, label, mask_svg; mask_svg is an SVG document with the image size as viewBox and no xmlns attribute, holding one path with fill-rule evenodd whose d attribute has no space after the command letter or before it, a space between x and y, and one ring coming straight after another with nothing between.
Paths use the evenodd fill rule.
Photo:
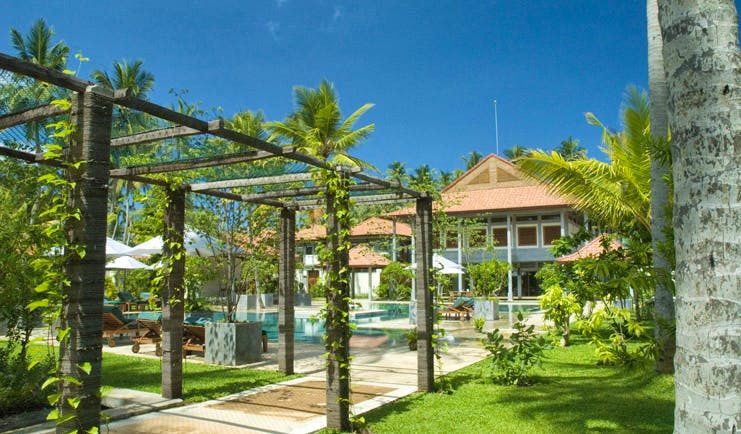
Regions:
<instances>
[{"instance_id":1,"label":"grass strip left of the path, beside the wooden loungers","mask_svg":"<svg viewBox=\"0 0 741 434\"><path fill-rule=\"evenodd\" d=\"M273 371L183 362L183 399L202 402L296 378ZM103 393L111 388L160 393L160 360L103 354Z\"/></svg>"}]
</instances>

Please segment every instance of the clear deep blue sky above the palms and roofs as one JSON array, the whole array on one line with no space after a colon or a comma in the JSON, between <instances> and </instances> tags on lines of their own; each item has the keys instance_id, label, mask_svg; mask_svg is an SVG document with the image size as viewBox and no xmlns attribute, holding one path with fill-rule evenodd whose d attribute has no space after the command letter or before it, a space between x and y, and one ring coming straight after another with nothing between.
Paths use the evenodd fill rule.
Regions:
<instances>
[{"instance_id":1,"label":"clear deep blue sky above the palms and roofs","mask_svg":"<svg viewBox=\"0 0 741 434\"><path fill-rule=\"evenodd\" d=\"M10 4L10 6L9 6ZM646 88L645 3L623 0L6 1L8 29L39 17L72 52L91 58L81 76L114 60L142 59L170 89L225 116L293 109L294 85L335 84L343 113L375 103L358 125L376 131L353 154L385 170L463 168L461 155L519 144L551 149L572 136L589 156L595 113L620 127L625 88Z\"/></svg>"}]
</instances>

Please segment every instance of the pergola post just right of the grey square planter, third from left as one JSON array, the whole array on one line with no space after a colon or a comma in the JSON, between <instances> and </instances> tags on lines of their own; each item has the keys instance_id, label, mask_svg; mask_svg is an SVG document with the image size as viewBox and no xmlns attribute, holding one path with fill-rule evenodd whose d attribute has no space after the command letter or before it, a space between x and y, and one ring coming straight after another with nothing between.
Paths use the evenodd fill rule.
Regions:
<instances>
[{"instance_id":1,"label":"pergola post just right of the grey square planter, third from left","mask_svg":"<svg viewBox=\"0 0 741 434\"><path fill-rule=\"evenodd\" d=\"M294 307L296 280L296 211L280 210L280 255L278 257L278 370L293 374Z\"/></svg>"}]
</instances>

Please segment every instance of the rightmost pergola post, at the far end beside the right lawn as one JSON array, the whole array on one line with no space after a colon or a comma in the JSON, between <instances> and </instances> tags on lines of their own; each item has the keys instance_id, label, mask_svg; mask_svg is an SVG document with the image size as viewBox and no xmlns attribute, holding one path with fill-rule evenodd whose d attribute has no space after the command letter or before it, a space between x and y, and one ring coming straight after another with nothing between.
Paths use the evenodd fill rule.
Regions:
<instances>
[{"instance_id":1,"label":"rightmost pergola post, at the far end beside the right lawn","mask_svg":"<svg viewBox=\"0 0 741 434\"><path fill-rule=\"evenodd\" d=\"M415 237L415 262L417 263L417 389L421 392L435 390L434 352L432 348L432 292L430 268L432 266L432 198L417 199L417 236Z\"/></svg>"}]
</instances>

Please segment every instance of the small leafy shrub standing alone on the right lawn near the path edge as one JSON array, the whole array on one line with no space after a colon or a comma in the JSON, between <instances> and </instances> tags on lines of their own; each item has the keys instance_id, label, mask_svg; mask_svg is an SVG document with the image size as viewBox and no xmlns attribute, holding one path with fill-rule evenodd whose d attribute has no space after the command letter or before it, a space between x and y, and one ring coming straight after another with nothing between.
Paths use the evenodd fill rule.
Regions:
<instances>
[{"instance_id":1,"label":"small leafy shrub standing alone on the right lawn near the path edge","mask_svg":"<svg viewBox=\"0 0 741 434\"><path fill-rule=\"evenodd\" d=\"M486 376L498 384L527 386L532 383L530 373L540 365L545 349L545 340L537 336L535 327L526 325L522 312L517 313L515 332L509 339L509 346L504 343L504 336L495 329L482 339L484 347L491 353L491 365Z\"/></svg>"}]
</instances>

